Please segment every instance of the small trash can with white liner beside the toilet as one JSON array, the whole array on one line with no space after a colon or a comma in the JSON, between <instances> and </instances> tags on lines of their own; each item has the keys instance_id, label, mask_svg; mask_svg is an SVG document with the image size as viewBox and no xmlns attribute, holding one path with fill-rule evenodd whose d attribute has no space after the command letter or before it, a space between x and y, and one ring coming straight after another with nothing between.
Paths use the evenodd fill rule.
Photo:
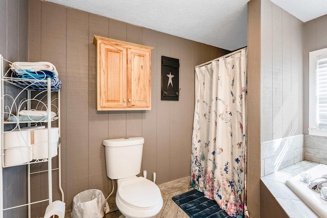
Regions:
<instances>
[{"instance_id":1,"label":"small trash can with white liner beside the toilet","mask_svg":"<svg viewBox=\"0 0 327 218\"><path fill-rule=\"evenodd\" d=\"M85 190L73 198L72 218L102 218L105 204L108 213L109 205L101 190Z\"/></svg>"}]
</instances>

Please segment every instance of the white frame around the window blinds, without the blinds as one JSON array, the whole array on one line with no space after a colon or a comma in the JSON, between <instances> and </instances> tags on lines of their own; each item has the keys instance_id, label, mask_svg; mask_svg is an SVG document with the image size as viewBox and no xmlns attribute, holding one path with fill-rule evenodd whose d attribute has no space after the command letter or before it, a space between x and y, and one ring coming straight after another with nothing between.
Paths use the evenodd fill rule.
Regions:
<instances>
[{"instance_id":1,"label":"white frame around the window blinds, without the blinds","mask_svg":"<svg viewBox=\"0 0 327 218\"><path fill-rule=\"evenodd\" d=\"M327 137L327 129L318 128L317 57L327 55L327 48L309 52L309 135Z\"/></svg>"}]
</instances>

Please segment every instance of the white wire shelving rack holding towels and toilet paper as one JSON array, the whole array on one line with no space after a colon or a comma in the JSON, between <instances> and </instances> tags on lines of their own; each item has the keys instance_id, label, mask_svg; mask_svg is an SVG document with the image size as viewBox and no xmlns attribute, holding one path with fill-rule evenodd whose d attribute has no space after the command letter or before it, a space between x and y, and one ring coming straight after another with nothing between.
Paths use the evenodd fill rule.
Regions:
<instances>
[{"instance_id":1,"label":"white wire shelving rack holding towels and toilet paper","mask_svg":"<svg viewBox=\"0 0 327 218\"><path fill-rule=\"evenodd\" d=\"M31 217L31 205L37 204L41 202L48 201L49 204L53 201L53 180L52 180L52 172L58 171L58 185L59 190L61 193L61 201L64 202L64 193L61 186L61 144L60 144L60 90L56 90L54 86L51 84L51 79L48 78L47 80L41 80L41 79L22 79L22 78L15 78L12 77L12 72L10 69L5 71L5 63L11 63L7 60L5 60L2 55L0 55L0 69L1 69L1 101L0 101L0 108L1 108L1 118L2 122L0 125L0 142L1 142L1 155L0 155L0 218L4 217L4 211L15 209L18 207L28 207L28 217ZM42 90L35 91L33 90L33 86L37 84L44 84ZM5 84L9 84L15 87L18 87L20 90L19 93L16 96L11 96L9 94L5 93L4 86ZM32 97L32 92L36 92L35 95ZM33 93L34 94L34 93ZM26 98L21 98L19 96L27 96ZM55 96L57 95L57 97ZM8 105L8 102L11 102L10 105ZM6 105L5 105L6 104ZM47 116L44 119L41 120L33 120L30 121L19 121L18 112L20 110L31 110L31 108L35 110L41 110L46 111ZM51 118L51 112L56 111L56 116L54 118ZM10 116L14 116L14 113L17 113L16 119L17 121L9 121ZM48 119L51 118L51 119ZM52 166L52 141L51 141L51 128L52 128L52 122L57 121L58 128L59 128L59 141L58 141L58 168L53 169ZM4 161L4 155L5 155L5 148L4 148L4 132L7 130L5 128L5 125L11 125L11 128L13 129L19 129L20 130L20 124L25 124L27 126L35 125L35 124L41 124L41 125L47 125L48 127L48 157L51 158L44 158L44 159L33 159L30 162L26 163L19 163L17 165L13 166L5 166ZM32 148L31 148L32 149ZM34 154L33 154L34 156ZM42 162L48 162L48 169L42 170L42 171L36 171L31 172L31 165L42 163ZM9 167L15 167L15 166L21 166L21 165L27 165L27 203L21 204L21 205L15 205L12 207L4 208L4 178L3 178L3 172L5 168ZM39 174L39 173L48 173L48 198L42 199L39 201L31 202L31 175Z\"/></svg>"}]
</instances>

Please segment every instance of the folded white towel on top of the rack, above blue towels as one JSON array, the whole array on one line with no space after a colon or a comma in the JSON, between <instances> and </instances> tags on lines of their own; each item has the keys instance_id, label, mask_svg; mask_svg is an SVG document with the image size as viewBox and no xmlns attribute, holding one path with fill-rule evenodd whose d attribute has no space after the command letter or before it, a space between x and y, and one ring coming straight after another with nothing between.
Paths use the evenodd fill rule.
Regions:
<instances>
[{"instance_id":1,"label":"folded white towel on top of the rack, above blue towels","mask_svg":"<svg viewBox=\"0 0 327 218\"><path fill-rule=\"evenodd\" d=\"M13 62L10 64L11 69L24 69L24 70L49 70L52 71L58 76L57 69L55 65L50 62Z\"/></svg>"}]
</instances>

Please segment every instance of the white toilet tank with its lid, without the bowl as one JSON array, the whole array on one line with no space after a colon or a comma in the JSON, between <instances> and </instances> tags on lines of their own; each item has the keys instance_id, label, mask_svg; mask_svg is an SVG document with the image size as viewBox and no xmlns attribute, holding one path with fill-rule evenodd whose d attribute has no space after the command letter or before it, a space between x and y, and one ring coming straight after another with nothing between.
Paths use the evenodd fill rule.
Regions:
<instances>
[{"instance_id":1,"label":"white toilet tank with its lid, without the bowl","mask_svg":"<svg viewBox=\"0 0 327 218\"><path fill-rule=\"evenodd\" d=\"M107 176L123 179L141 172L144 138L104 140Z\"/></svg>"}]
</instances>

